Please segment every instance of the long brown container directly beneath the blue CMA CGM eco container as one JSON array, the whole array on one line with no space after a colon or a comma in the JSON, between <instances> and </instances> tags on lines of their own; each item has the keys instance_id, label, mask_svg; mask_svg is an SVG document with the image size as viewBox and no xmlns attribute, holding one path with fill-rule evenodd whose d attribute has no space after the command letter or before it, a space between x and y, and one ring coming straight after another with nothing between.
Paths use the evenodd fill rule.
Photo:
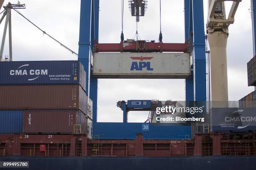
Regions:
<instances>
[{"instance_id":1,"label":"long brown container directly beneath the blue CMA CGM eco container","mask_svg":"<svg viewBox=\"0 0 256 170\"><path fill-rule=\"evenodd\" d=\"M86 113L80 85L1 85L0 94L0 110L80 109Z\"/></svg>"}]
</instances>

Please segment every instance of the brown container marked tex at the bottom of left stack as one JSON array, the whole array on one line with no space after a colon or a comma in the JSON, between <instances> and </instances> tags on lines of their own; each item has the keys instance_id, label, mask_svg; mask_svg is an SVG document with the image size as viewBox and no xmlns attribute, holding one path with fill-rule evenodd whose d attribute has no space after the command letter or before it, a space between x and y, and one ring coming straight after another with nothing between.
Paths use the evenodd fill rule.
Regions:
<instances>
[{"instance_id":1,"label":"brown container marked tex at the bottom of left stack","mask_svg":"<svg viewBox=\"0 0 256 170\"><path fill-rule=\"evenodd\" d=\"M24 110L23 133L87 134L86 115L78 110Z\"/></svg>"}]
</instances>

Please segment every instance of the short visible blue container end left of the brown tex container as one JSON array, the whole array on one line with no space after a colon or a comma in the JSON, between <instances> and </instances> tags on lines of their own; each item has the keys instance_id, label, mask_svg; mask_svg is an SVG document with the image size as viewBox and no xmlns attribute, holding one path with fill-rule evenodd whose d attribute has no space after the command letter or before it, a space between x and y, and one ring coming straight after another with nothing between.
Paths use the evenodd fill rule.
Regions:
<instances>
[{"instance_id":1,"label":"short visible blue container end left of the brown tex container","mask_svg":"<svg viewBox=\"0 0 256 170\"><path fill-rule=\"evenodd\" d=\"M0 110L0 134L22 133L22 111Z\"/></svg>"}]
</instances>

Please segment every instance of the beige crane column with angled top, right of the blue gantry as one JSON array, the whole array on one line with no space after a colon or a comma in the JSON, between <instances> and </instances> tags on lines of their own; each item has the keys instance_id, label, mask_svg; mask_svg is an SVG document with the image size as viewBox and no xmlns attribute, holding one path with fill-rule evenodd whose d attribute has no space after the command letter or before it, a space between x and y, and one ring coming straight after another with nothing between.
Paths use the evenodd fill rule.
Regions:
<instances>
[{"instance_id":1,"label":"beige crane column with angled top, right of the blue gantry","mask_svg":"<svg viewBox=\"0 0 256 170\"><path fill-rule=\"evenodd\" d=\"M236 10L242 0L233 1L228 18L225 1L209 0L207 38L210 45L210 76L212 107L228 107L227 40L228 27L233 24ZM209 80L209 79L208 79ZM210 100L210 98L209 98ZM216 102L222 101L222 102Z\"/></svg>"}]
</instances>

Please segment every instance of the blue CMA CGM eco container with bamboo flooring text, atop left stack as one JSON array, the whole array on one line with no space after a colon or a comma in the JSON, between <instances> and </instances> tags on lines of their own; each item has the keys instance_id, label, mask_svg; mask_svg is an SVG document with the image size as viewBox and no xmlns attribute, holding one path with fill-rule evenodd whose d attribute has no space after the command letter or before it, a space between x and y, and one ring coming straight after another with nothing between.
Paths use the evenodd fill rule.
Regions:
<instances>
[{"instance_id":1,"label":"blue CMA CGM eco container with bamboo flooring text, atop left stack","mask_svg":"<svg viewBox=\"0 0 256 170\"><path fill-rule=\"evenodd\" d=\"M0 62L0 85L80 84L85 89L84 66L79 61Z\"/></svg>"}]
</instances>

